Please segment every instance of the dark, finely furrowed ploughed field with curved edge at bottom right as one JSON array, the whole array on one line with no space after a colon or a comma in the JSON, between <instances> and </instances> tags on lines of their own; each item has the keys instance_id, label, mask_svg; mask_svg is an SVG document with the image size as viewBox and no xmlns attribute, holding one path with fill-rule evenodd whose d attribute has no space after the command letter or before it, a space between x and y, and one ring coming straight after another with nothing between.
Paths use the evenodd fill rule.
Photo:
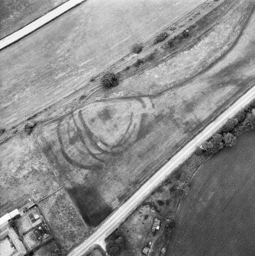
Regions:
<instances>
[{"instance_id":1,"label":"dark, finely furrowed ploughed field with curved edge at bottom right","mask_svg":"<svg viewBox=\"0 0 255 256\"><path fill-rule=\"evenodd\" d=\"M207 160L176 216L168 255L255 254L255 132Z\"/></svg>"}]
</instances>

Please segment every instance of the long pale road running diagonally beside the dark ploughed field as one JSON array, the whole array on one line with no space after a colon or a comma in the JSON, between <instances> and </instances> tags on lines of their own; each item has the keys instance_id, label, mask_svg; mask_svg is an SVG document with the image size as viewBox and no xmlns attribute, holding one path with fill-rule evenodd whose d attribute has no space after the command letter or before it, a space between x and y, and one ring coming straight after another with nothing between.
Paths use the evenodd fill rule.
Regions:
<instances>
[{"instance_id":1,"label":"long pale road running diagonally beside the dark ploughed field","mask_svg":"<svg viewBox=\"0 0 255 256\"><path fill-rule=\"evenodd\" d=\"M124 222L124 219L127 218L137 206L150 194L152 191L160 184L163 180L166 180L169 177L170 173L173 173L173 170L176 167L179 167L180 164L186 160L195 148L202 144L203 141L207 140L211 137L212 134L215 134L218 131L218 128L223 125L228 118L231 118L240 109L243 109L245 105L255 99L255 87L250 89L244 96L240 97L230 108L228 108L225 112L218 116L214 122L211 122L202 132L200 132L195 138L192 139L185 147L182 148L174 157L172 157L169 162L166 163L160 170L157 171L147 181L143 186L140 187L140 190L137 193L134 193L130 199L127 200L118 210L116 210L112 215L105 220L98 227L98 229L83 241L82 244L77 246L73 251L71 251L68 256L82 256L92 245L99 244L102 245L102 241L111 234L121 222Z\"/></svg>"}]
</instances>

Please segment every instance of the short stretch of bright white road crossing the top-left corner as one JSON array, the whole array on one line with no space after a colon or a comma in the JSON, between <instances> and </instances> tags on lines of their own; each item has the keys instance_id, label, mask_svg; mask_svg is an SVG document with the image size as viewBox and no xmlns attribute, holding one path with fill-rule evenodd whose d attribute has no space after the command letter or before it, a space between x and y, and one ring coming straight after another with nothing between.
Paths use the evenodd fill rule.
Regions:
<instances>
[{"instance_id":1,"label":"short stretch of bright white road crossing the top-left corner","mask_svg":"<svg viewBox=\"0 0 255 256\"><path fill-rule=\"evenodd\" d=\"M31 34L33 31L36 31L38 28L44 26L50 21L53 21L53 19L55 19L56 17L63 15L63 13L65 13L66 11L69 11L69 9L85 1L86 0L69 0L68 2L63 3L63 5L54 8L52 11L49 11L46 15L37 18L37 20L32 21L30 24L27 24L24 28L21 28L18 31L8 35L7 37L4 37L0 41L0 50L2 50L10 44L15 43L16 41L27 36L28 34Z\"/></svg>"}]
</instances>

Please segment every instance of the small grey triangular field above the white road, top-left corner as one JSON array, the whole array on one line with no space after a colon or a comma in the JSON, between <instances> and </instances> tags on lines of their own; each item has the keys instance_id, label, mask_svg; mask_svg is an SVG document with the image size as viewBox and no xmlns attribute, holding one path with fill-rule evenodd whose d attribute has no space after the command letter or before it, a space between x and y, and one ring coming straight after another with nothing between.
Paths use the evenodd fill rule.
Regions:
<instances>
[{"instance_id":1,"label":"small grey triangular field above the white road, top-left corner","mask_svg":"<svg viewBox=\"0 0 255 256\"><path fill-rule=\"evenodd\" d=\"M34 21L66 0L1 0L0 39Z\"/></svg>"}]
</instances>

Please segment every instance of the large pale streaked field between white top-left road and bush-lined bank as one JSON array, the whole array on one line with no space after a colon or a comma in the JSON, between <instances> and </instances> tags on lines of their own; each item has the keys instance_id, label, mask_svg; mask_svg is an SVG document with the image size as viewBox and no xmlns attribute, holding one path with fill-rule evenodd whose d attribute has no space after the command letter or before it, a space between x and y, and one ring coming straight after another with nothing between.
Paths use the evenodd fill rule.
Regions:
<instances>
[{"instance_id":1,"label":"large pale streaked field between white top-left road and bush-lined bank","mask_svg":"<svg viewBox=\"0 0 255 256\"><path fill-rule=\"evenodd\" d=\"M86 1L2 50L1 122L11 127L68 96L204 1Z\"/></svg>"}]
</instances>

